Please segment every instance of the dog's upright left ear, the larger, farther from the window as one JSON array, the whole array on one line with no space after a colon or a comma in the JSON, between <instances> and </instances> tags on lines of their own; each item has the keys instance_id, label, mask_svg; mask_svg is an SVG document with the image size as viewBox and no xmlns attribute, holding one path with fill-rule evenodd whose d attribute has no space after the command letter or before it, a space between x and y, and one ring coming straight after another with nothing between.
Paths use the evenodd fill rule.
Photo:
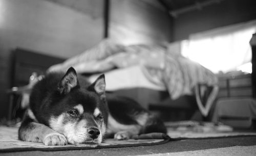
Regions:
<instances>
[{"instance_id":1,"label":"dog's upright left ear, the larger, farther from the window","mask_svg":"<svg viewBox=\"0 0 256 156\"><path fill-rule=\"evenodd\" d=\"M78 86L76 70L70 67L58 84L60 94L67 94L74 87Z\"/></svg>"}]
</instances>

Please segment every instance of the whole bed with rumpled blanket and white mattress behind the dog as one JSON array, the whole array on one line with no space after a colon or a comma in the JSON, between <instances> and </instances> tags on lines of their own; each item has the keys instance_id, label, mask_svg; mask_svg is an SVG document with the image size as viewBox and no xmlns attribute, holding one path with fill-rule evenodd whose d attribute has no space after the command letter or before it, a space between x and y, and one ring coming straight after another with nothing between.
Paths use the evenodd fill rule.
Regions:
<instances>
[{"instance_id":1,"label":"whole bed with rumpled blanket and white mattress behind the dog","mask_svg":"<svg viewBox=\"0 0 256 156\"><path fill-rule=\"evenodd\" d=\"M185 111L183 120L196 109L208 116L218 94L214 73L160 45L122 45L104 39L47 72L66 71L70 66L90 82L104 73L107 92L132 97L144 108L167 110L167 114Z\"/></svg>"}]
</instances>

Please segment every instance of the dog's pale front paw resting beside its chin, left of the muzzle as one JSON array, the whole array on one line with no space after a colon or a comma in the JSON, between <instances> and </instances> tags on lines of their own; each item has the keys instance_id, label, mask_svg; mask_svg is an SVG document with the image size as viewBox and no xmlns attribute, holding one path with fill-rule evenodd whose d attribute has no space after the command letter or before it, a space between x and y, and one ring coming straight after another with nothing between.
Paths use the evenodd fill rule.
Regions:
<instances>
[{"instance_id":1,"label":"dog's pale front paw resting beside its chin, left of the muzzle","mask_svg":"<svg viewBox=\"0 0 256 156\"><path fill-rule=\"evenodd\" d=\"M51 133L47 135L42 142L48 146L68 144L66 137L58 133Z\"/></svg>"}]
</instances>

